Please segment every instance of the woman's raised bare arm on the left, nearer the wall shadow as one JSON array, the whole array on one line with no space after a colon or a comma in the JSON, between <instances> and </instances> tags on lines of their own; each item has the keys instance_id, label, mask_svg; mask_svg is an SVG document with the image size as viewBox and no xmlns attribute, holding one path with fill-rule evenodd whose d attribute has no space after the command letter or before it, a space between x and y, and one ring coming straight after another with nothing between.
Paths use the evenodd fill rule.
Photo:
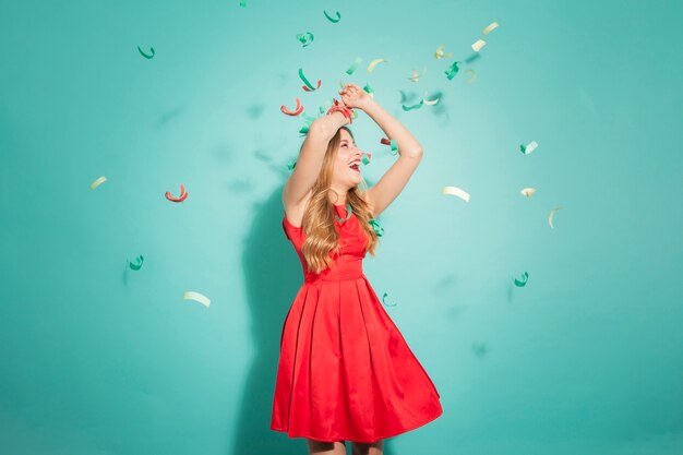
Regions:
<instances>
[{"instance_id":1,"label":"woman's raised bare arm on the left, nearer the wall shadow","mask_svg":"<svg viewBox=\"0 0 683 455\"><path fill-rule=\"evenodd\" d=\"M332 112L313 120L301 145L297 166L283 189L283 204L287 212L309 194L323 166L329 140L347 123L348 119L342 112Z\"/></svg>"}]
</instances>

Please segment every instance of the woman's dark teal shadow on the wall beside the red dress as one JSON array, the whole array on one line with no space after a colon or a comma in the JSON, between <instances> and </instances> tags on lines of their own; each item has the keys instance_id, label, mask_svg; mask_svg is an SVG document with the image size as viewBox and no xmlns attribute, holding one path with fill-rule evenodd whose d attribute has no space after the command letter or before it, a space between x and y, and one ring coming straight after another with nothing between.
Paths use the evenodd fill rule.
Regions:
<instances>
[{"instance_id":1,"label":"woman's dark teal shadow on the wall beside the red dress","mask_svg":"<svg viewBox=\"0 0 683 455\"><path fill-rule=\"evenodd\" d=\"M368 182L370 187L370 182ZM247 374L230 455L308 454L303 438L271 430L275 378L283 324L303 284L303 271L283 231L281 188L254 207L253 225L244 239L242 267L255 357ZM392 455L391 439L384 453ZM350 452L350 443L347 442Z\"/></svg>"}]
</instances>

